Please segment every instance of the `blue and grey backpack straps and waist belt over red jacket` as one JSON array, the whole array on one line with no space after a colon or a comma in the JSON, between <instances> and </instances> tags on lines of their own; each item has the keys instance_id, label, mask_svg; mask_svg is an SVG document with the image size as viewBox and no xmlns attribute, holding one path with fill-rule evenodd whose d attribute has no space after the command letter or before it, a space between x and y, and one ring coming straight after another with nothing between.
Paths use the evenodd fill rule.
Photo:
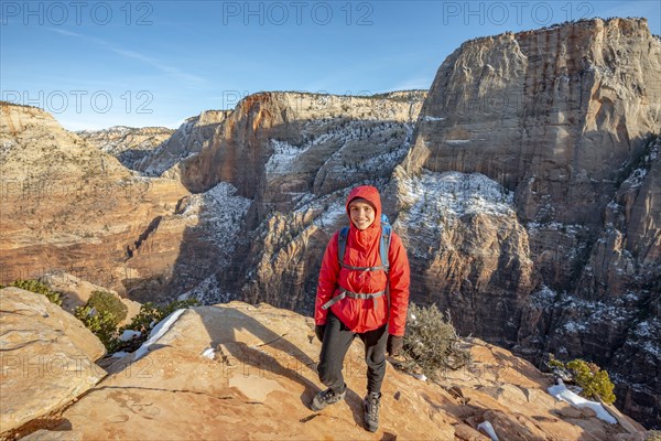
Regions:
<instances>
[{"instance_id":1,"label":"blue and grey backpack straps and waist belt over red jacket","mask_svg":"<svg viewBox=\"0 0 661 441\"><path fill-rule=\"evenodd\" d=\"M390 272L390 261L388 260L388 251L390 250L390 240L392 239L392 227L390 226L390 222L388 220L388 216L386 216L384 214L381 214L381 238L379 241L379 254L381 255L381 265L377 266L377 267L354 267L350 265L346 265L344 262L344 257L347 250L347 237L349 235L349 227L344 227L339 230L339 235L337 235L337 258L339 260L339 266L343 268L347 268L350 270L355 270L355 271L379 271L379 270L383 270L386 271L386 275L388 275ZM328 308L330 308L334 303L339 302L342 299L349 297L351 299L362 299L362 300L367 300L367 299L372 299L375 302L375 308L377 308L377 299L386 295L387 301L388 301L388 305L390 305L390 278L388 278L388 282L386 283L386 289L379 292L372 292L372 293L359 293L359 292L351 292L348 291L344 288L340 287L340 293L339 295L334 297L333 299L330 299L329 301L327 301L326 303L324 303L324 305L322 305L322 308L324 310L327 310Z\"/></svg>"}]
</instances>

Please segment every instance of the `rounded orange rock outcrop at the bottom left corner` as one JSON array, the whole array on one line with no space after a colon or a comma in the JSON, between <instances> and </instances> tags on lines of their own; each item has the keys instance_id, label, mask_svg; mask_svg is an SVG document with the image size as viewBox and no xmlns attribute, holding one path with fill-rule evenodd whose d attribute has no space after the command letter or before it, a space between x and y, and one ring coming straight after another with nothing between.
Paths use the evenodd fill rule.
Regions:
<instances>
[{"instance_id":1,"label":"rounded orange rock outcrop at the bottom left corner","mask_svg":"<svg viewBox=\"0 0 661 441\"><path fill-rule=\"evenodd\" d=\"M106 348L45 295L0 290L0 432L57 409L94 387Z\"/></svg>"}]
</instances>

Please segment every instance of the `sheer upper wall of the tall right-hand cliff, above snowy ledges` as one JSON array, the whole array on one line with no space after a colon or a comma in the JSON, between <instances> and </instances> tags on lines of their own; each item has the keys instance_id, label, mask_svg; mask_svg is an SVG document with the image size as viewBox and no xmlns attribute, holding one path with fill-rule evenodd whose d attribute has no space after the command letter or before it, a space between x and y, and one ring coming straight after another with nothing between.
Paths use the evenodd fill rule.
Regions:
<instances>
[{"instance_id":1,"label":"sheer upper wall of the tall right-hand cliff, above snowy ledges","mask_svg":"<svg viewBox=\"0 0 661 441\"><path fill-rule=\"evenodd\" d=\"M436 74L407 170L479 172L523 222L599 225L622 163L659 131L661 44L600 20L467 42Z\"/></svg>"}]
</instances>

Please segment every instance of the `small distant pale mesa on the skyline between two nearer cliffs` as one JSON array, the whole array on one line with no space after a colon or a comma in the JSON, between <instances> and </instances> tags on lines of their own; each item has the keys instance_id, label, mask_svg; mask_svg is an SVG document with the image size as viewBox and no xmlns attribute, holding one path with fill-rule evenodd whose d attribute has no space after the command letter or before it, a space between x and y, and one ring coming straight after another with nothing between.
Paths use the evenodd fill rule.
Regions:
<instances>
[{"instance_id":1,"label":"small distant pale mesa on the skyline between two nearer cliffs","mask_svg":"<svg viewBox=\"0 0 661 441\"><path fill-rule=\"evenodd\" d=\"M105 130L82 130L76 135L89 146L112 154L127 168L136 169L137 162L170 139L173 132L165 127L115 126Z\"/></svg>"}]
</instances>

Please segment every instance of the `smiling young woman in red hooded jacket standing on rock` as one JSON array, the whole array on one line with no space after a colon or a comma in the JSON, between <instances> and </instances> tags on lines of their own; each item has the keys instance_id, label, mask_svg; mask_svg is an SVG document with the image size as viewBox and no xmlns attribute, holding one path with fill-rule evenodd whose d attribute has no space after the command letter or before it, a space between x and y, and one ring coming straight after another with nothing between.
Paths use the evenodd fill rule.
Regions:
<instances>
[{"instance_id":1,"label":"smiling young woman in red hooded jacket standing on rock","mask_svg":"<svg viewBox=\"0 0 661 441\"><path fill-rule=\"evenodd\" d=\"M358 336L367 363L364 420L366 429L373 432L379 427L386 351L397 355L403 344L409 260L400 237L381 225L377 189L354 189L347 198L347 214L349 227L335 233L319 271L314 318L322 342L317 372L327 389L314 397L311 407L321 410L344 399L343 362ZM381 252L387 252L387 262Z\"/></svg>"}]
</instances>

